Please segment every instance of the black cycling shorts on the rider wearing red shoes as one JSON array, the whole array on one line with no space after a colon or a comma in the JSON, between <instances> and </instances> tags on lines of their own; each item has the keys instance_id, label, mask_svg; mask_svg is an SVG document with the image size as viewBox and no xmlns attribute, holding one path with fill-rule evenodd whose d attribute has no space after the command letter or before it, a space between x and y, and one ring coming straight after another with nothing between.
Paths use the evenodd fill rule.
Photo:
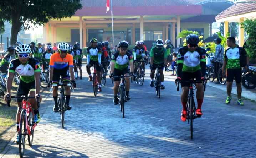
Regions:
<instances>
[{"instance_id":1,"label":"black cycling shorts on the rider wearing red shoes","mask_svg":"<svg viewBox=\"0 0 256 158\"><path fill-rule=\"evenodd\" d=\"M195 80L195 83L202 83L201 70L195 72L182 72L181 73L181 87L189 87L188 81Z\"/></svg>"}]
</instances>

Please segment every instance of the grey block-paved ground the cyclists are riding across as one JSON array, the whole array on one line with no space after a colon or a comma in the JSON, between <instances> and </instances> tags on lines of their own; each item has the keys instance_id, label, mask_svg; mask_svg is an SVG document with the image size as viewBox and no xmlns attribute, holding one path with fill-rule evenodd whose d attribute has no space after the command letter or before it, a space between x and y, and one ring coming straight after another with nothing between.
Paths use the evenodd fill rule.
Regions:
<instances>
[{"instance_id":1,"label":"grey block-paved ground the cyclists are riding across","mask_svg":"<svg viewBox=\"0 0 256 158\"><path fill-rule=\"evenodd\" d=\"M181 92L175 90L174 78L166 75L166 89L158 99L149 87L148 69L146 76L143 86L132 84L132 99L125 103L126 118L122 118L119 106L112 104L110 80L97 97L87 77L77 81L65 129L60 115L52 111L52 97L47 98L41 104L47 108L36 127L34 145L26 145L25 157L256 157L255 103L245 100L245 106L240 107L233 99L226 105L226 92L208 86L204 115L194 121L194 140L190 140L190 126L180 120ZM17 155L18 146L10 142L0 158Z\"/></svg>"}]
</instances>

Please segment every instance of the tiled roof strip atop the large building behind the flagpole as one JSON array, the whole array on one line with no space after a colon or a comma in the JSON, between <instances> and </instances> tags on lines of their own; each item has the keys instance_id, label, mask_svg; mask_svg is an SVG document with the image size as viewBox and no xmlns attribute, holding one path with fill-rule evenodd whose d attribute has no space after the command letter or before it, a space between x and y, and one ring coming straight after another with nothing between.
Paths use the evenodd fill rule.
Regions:
<instances>
[{"instance_id":1,"label":"tiled roof strip atop the large building behind the flagpole","mask_svg":"<svg viewBox=\"0 0 256 158\"><path fill-rule=\"evenodd\" d=\"M82 0L84 7L106 6L106 0ZM113 0L113 6L182 6L185 0Z\"/></svg>"}]
</instances>

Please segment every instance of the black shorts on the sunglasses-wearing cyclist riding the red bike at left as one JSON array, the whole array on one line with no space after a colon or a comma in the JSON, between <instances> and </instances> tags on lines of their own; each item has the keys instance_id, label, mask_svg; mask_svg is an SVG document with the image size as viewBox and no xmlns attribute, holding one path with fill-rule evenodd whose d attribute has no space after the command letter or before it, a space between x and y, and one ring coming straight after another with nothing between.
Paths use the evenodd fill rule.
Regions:
<instances>
[{"instance_id":1,"label":"black shorts on the sunglasses-wearing cyclist riding the red bike at left","mask_svg":"<svg viewBox=\"0 0 256 158\"><path fill-rule=\"evenodd\" d=\"M30 91L36 91L35 81L26 83L26 82L20 80L18 91L17 91L17 96L18 97L21 97L23 95L27 96ZM17 98L17 102L22 102L22 100L20 98Z\"/></svg>"}]
</instances>

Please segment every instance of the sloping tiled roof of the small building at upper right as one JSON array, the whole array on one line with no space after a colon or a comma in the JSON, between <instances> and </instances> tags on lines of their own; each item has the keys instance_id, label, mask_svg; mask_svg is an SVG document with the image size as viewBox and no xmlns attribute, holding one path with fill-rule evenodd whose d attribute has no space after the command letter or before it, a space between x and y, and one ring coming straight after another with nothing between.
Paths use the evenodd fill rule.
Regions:
<instances>
[{"instance_id":1,"label":"sloping tiled roof of the small building at upper right","mask_svg":"<svg viewBox=\"0 0 256 158\"><path fill-rule=\"evenodd\" d=\"M246 3L247 2L247 3ZM251 2L251 3L250 3ZM245 3L236 3L215 17L216 20L230 16L236 16L256 11L255 0L247 0Z\"/></svg>"}]
</instances>

